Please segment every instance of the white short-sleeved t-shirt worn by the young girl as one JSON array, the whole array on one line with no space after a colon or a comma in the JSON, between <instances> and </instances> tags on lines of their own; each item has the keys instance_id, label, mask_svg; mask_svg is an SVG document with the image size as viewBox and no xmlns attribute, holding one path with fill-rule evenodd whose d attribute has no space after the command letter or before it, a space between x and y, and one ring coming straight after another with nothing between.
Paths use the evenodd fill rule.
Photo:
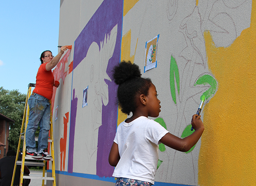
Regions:
<instances>
[{"instance_id":1,"label":"white short-sleeved t-shirt worn by the young girl","mask_svg":"<svg viewBox=\"0 0 256 186\"><path fill-rule=\"evenodd\" d=\"M123 121L116 130L119 160L113 176L155 183L159 140L168 131L154 120L141 116L130 123Z\"/></svg>"}]
</instances>

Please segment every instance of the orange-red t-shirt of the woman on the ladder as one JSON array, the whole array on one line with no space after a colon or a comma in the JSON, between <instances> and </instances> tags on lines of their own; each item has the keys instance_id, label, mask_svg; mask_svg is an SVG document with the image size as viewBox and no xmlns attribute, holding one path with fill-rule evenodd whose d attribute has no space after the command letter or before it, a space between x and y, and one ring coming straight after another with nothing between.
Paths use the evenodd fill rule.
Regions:
<instances>
[{"instance_id":1,"label":"orange-red t-shirt of the woman on the ladder","mask_svg":"<svg viewBox=\"0 0 256 186\"><path fill-rule=\"evenodd\" d=\"M46 64L47 63L41 64L38 69L33 93L37 93L51 100L53 96L54 75L52 70L46 70Z\"/></svg>"}]
</instances>

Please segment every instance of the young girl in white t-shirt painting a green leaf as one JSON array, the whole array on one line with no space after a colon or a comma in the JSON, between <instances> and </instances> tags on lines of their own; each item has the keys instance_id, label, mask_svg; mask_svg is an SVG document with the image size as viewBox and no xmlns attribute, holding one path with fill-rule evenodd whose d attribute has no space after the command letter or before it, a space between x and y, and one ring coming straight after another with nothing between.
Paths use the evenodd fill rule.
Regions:
<instances>
[{"instance_id":1,"label":"young girl in white t-shirt painting a green leaf","mask_svg":"<svg viewBox=\"0 0 256 186\"><path fill-rule=\"evenodd\" d=\"M123 121L116 130L108 162L116 166L113 176L115 186L154 185L158 162L158 145L163 143L175 150L187 152L200 139L204 126L201 116L193 115L191 124L195 132L181 139L148 117L158 117L161 112L155 85L141 78L139 66L122 61L114 68L118 86L117 98L123 113L132 117Z\"/></svg>"}]
</instances>

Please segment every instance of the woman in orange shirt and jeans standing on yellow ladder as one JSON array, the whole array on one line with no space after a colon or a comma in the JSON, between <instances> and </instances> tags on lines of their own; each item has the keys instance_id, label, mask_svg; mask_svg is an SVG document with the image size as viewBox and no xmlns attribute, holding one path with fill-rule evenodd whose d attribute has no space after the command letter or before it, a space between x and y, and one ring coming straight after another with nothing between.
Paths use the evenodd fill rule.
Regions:
<instances>
[{"instance_id":1,"label":"woman in orange shirt and jeans standing on yellow ladder","mask_svg":"<svg viewBox=\"0 0 256 186\"><path fill-rule=\"evenodd\" d=\"M59 81L54 81L52 69L59 63L62 54L68 46L62 46L56 57L52 52L44 51L40 56L41 65L36 75L36 84L33 93L28 99L29 118L26 130L26 156L33 158L51 159L47 152L48 133L50 130L50 100L53 95L53 86L59 87ZM35 131L40 127L38 149L35 146Z\"/></svg>"}]
</instances>

